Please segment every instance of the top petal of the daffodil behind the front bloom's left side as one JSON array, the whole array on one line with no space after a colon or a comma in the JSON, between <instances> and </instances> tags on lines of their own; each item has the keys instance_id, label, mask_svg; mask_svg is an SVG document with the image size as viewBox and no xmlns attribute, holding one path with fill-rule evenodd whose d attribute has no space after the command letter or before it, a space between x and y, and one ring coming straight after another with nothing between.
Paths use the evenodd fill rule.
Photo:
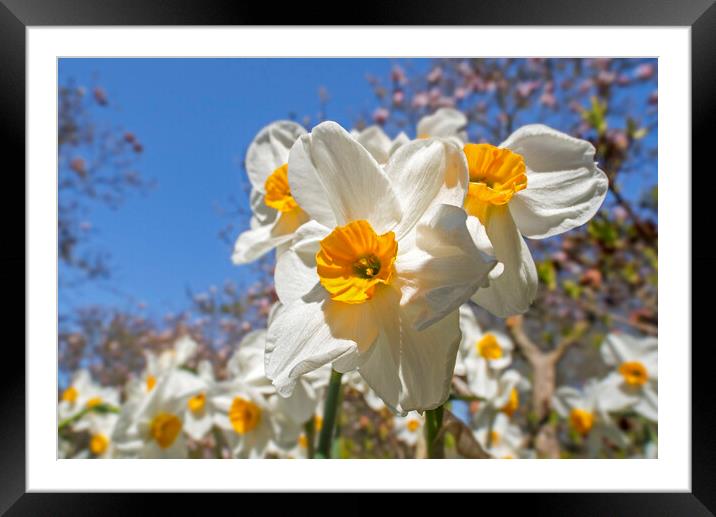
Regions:
<instances>
[{"instance_id":1,"label":"top petal of the daffodil behind the front bloom's left side","mask_svg":"<svg viewBox=\"0 0 716 517\"><path fill-rule=\"evenodd\" d=\"M290 120L279 120L258 132L246 152L246 172L255 190L265 192L266 178L288 162L291 146L304 134L306 130Z\"/></svg>"}]
</instances>

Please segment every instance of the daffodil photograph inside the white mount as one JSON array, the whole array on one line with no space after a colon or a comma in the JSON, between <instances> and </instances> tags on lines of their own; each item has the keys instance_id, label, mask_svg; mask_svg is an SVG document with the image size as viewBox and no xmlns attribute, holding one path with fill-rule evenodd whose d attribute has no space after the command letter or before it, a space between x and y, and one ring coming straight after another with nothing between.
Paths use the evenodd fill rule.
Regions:
<instances>
[{"instance_id":1,"label":"daffodil photograph inside the white mount","mask_svg":"<svg viewBox=\"0 0 716 517\"><path fill-rule=\"evenodd\" d=\"M659 65L58 57L56 458L655 463Z\"/></svg>"}]
</instances>

